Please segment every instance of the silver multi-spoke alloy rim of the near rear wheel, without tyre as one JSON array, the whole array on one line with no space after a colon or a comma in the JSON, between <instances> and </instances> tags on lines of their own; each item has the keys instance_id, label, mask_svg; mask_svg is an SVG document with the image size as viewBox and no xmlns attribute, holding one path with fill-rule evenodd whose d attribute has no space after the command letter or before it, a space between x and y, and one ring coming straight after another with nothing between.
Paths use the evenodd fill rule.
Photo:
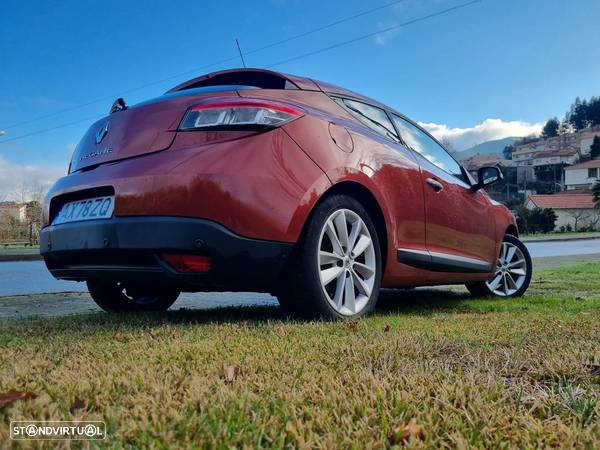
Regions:
<instances>
[{"instance_id":1,"label":"silver multi-spoke alloy rim of the near rear wheel, without tyre","mask_svg":"<svg viewBox=\"0 0 600 450\"><path fill-rule=\"evenodd\" d=\"M318 269L321 287L331 307L352 316L371 298L377 259L371 233L349 209L333 212L319 238Z\"/></svg>"}]
</instances>

